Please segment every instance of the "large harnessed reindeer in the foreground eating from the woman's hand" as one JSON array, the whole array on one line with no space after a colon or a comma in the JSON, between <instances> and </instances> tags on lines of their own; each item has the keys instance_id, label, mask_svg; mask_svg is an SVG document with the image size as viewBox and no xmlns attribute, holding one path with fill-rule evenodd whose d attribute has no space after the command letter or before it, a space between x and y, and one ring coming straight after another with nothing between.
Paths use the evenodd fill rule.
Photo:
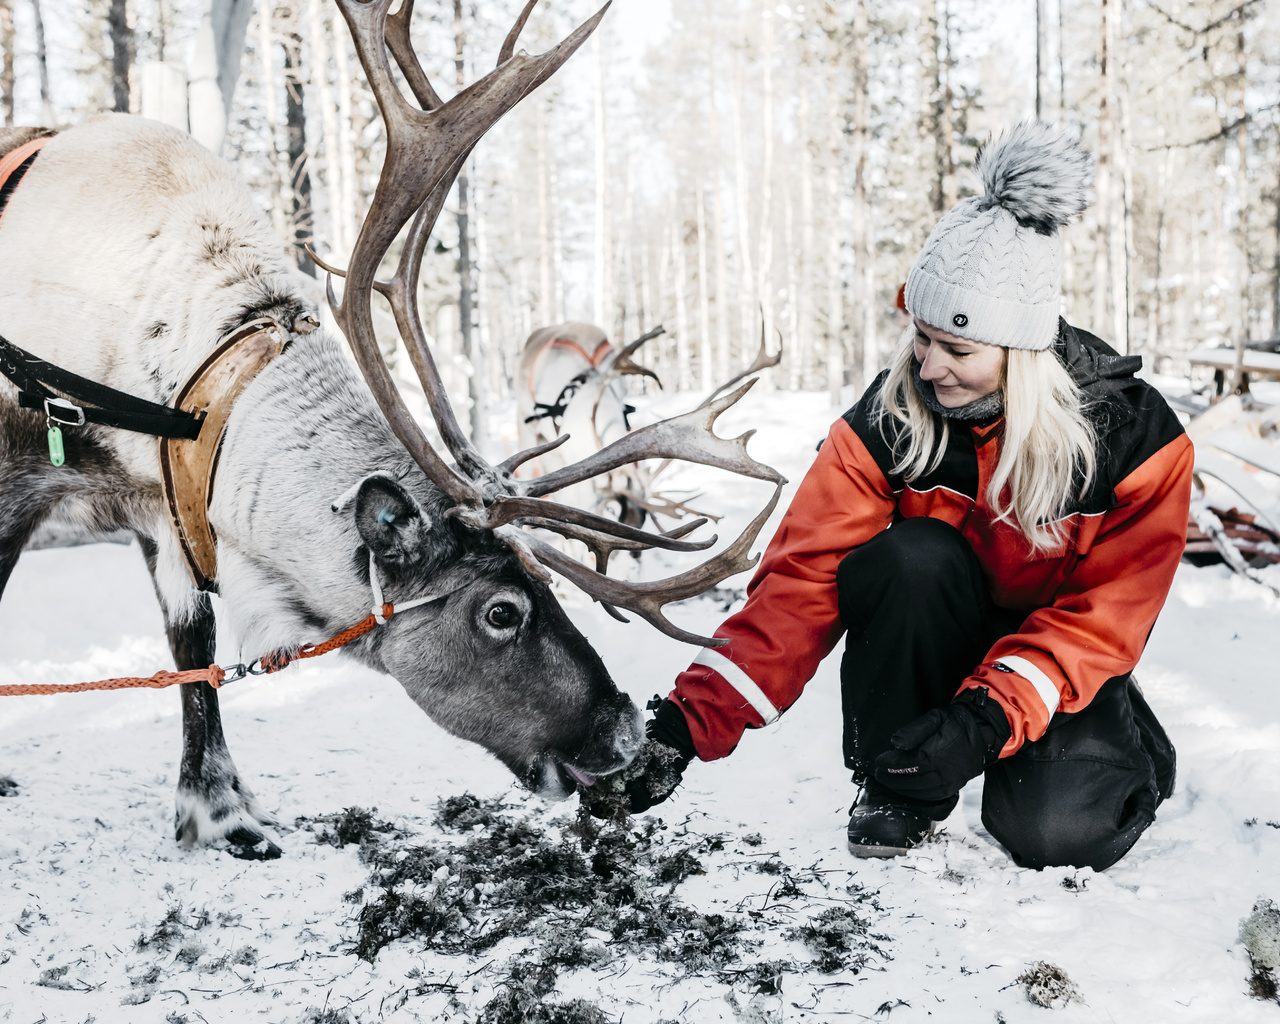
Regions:
<instances>
[{"instance_id":1,"label":"large harnessed reindeer in the foreground eating from the woman's hand","mask_svg":"<svg viewBox=\"0 0 1280 1024\"><path fill-rule=\"evenodd\" d=\"M411 0L397 14L392 3L338 0L387 124L385 164L340 300L332 278L328 291L364 380L319 325L247 189L189 137L127 115L91 118L50 138L9 197L0 334L14 344L134 398L183 408L198 406L193 394L209 366L244 351L234 346L270 351L234 401L198 410L195 440L72 426L93 410L24 408L0 381L0 593L32 531L56 516L138 538L179 669L212 662L210 591L250 653L333 636L367 616L371 599L385 618L385 600L401 611L347 650L397 678L429 717L481 744L522 783L562 797L626 765L643 733L637 709L552 596L548 568L616 614L630 609L673 637L714 643L669 622L663 608L754 563L748 550L782 477L748 456L749 434L730 440L712 429L745 388L536 480L518 480L515 470L558 440L500 465L481 458L422 332L422 252L480 137L581 46L604 10L529 56L515 44L530 0L497 68L444 102L410 44ZM392 59L416 105L396 84ZM0 134L0 154L24 137ZM379 280L410 220L396 273ZM375 291L390 303L452 463L396 392L374 337ZM55 416L65 424L61 466L46 447ZM170 508L165 495L191 474L197 447L207 476ZM767 480L773 499L707 562L657 582L616 580L605 575L614 550L704 550L713 539L644 534L545 495L644 458L687 458ZM188 532L205 517L204 534ZM524 527L582 540L595 568ZM183 685L182 707L175 837L241 858L279 856L264 831L269 817L228 753L216 690Z\"/></svg>"}]
</instances>

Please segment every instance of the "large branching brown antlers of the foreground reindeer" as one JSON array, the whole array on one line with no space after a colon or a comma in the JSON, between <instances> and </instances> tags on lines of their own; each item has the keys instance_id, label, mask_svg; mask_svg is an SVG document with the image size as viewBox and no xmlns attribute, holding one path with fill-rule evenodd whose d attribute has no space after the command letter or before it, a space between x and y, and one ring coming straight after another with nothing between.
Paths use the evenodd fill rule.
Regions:
<instances>
[{"instance_id":1,"label":"large branching brown antlers of the foreground reindeer","mask_svg":"<svg viewBox=\"0 0 1280 1024\"><path fill-rule=\"evenodd\" d=\"M356 362L369 383L374 399L387 416L392 431L408 449L428 479L454 503L449 511L467 526L492 530L512 547L535 576L545 579L541 566L561 572L584 591L602 602L612 613L627 608L653 622L669 636L690 643L718 645L723 641L695 636L672 625L662 608L703 593L721 580L754 564L748 549L777 504L786 480L769 466L746 454L746 442L754 431L739 438L716 435L716 419L750 388L742 385L724 397L712 396L699 408L682 416L632 431L581 462L534 480L517 480L515 470L525 461L550 451L563 439L512 456L498 466L490 465L475 448L458 424L444 390L439 369L431 356L417 310L417 279L431 229L444 207L445 197L471 150L493 124L520 100L545 82L586 41L600 23L609 4L584 22L558 46L539 56L516 54L516 42L536 0L529 0L507 35L498 67L452 100L442 101L422 70L410 41L412 0L403 0L390 14L394 0L337 0L356 44L374 99L387 124L387 157L370 204L369 215L351 253L346 273L316 262L332 275L344 276L339 302L328 283L329 305L351 344ZM396 84L390 68L394 58L408 83L415 108ZM399 264L390 280L378 280L376 271L396 237L408 228ZM378 347L372 328L372 293L381 293L392 306L396 325L413 369L422 383L428 407L457 467L448 465L428 442L408 412ZM617 357L620 372L646 372L632 364L631 355L660 329L628 344ZM740 379L740 378L739 378ZM723 390L723 389L721 389ZM614 550L704 550L716 543L684 540L705 520L687 524L667 534L650 534L623 526L604 516L543 500L570 484L608 472L646 458L680 458L717 466L776 485L769 504L721 554L694 570L655 582L623 582L607 577L609 556ZM595 554L595 571L563 554L536 535L520 527L540 527L581 540ZM540 563L540 564L539 564Z\"/></svg>"}]
</instances>

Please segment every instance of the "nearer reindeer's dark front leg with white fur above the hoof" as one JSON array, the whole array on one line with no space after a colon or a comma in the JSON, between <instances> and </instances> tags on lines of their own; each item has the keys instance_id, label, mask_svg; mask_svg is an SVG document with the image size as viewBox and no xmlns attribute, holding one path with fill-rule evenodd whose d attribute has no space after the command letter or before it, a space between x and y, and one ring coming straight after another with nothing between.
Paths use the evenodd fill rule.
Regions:
<instances>
[{"instance_id":1,"label":"nearer reindeer's dark front leg with white fur above the hoof","mask_svg":"<svg viewBox=\"0 0 1280 1024\"><path fill-rule=\"evenodd\" d=\"M155 566L155 545L140 538L147 567ZM164 603L161 602L161 605ZM178 671L206 668L214 663L216 626L206 595L188 622L175 623L165 612L165 632ZM178 799L174 838L183 846L225 842L232 856L243 860L274 860L280 847L260 826L271 819L241 782L227 750L218 691L207 682L182 687L182 765L178 769Z\"/></svg>"}]
</instances>

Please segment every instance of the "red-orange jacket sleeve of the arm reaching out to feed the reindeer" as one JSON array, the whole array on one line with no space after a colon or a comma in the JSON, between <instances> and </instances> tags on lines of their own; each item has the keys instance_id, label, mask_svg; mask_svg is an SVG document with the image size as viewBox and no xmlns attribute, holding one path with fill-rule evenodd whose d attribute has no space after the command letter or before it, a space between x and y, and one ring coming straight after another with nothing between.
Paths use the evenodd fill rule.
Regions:
<instances>
[{"instance_id":1,"label":"red-orange jacket sleeve of the arm reaching out to feed the reindeer","mask_svg":"<svg viewBox=\"0 0 1280 1024\"><path fill-rule=\"evenodd\" d=\"M704 648L676 678L671 698L699 758L730 754L745 728L776 721L800 696L845 631L836 570L888 527L896 507L861 439L837 420L769 541L746 604L716 630L730 643Z\"/></svg>"}]
</instances>

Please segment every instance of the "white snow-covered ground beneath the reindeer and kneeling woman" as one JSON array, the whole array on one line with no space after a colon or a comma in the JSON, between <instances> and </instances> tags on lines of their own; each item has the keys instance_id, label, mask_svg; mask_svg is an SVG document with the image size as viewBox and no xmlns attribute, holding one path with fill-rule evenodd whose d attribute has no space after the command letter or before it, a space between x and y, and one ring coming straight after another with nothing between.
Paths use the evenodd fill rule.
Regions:
<instances>
[{"instance_id":1,"label":"white snow-covered ground beneath the reindeer and kneeling woman","mask_svg":"<svg viewBox=\"0 0 1280 1024\"><path fill-rule=\"evenodd\" d=\"M689 396L662 402L691 404ZM773 392L745 404L722 433L758 425L753 453L794 488L832 419L824 396ZM684 481L705 493L703 504L732 512L724 535L764 495L716 476L690 470ZM643 622L623 626L568 603L641 704L666 692L692 654ZM708 599L675 612L703 630L721 616ZM1280 1020L1280 1006L1247 993L1236 943L1254 900L1280 899L1277 626L1280 602L1262 588L1221 567L1179 570L1138 673L1178 746L1178 791L1101 874L1016 868L980 826L980 783L940 840L892 861L852 859L832 657L777 726L750 733L730 759L695 763L657 810L673 842L682 832L722 837L723 849L704 844L699 854L705 874L676 891L703 914L754 929L759 946L744 963L790 961L781 992L621 955L562 970L552 1001L588 1000L628 1024ZM224 648L224 662L238 659ZM136 549L23 557L0 602L0 684L169 664ZM356 915L372 892L356 891L370 868L355 846L317 844L315 826L294 822L376 806L431 842L442 838L433 823L440 797L503 797L539 828L572 808L541 806L484 751L428 721L393 680L340 655L236 684L223 713L242 776L280 822L280 860L174 845L177 694L0 700L0 776L19 785L0 799L0 1020L479 1020L486 1005L484 1019L502 1019L490 1001L512 963L535 955L531 942L517 936L468 957L407 937L372 964L357 959ZM795 884L783 890L780 879ZM823 973L785 933L841 906L850 886L881 952L856 973ZM1065 970L1080 1001L1060 1010L1029 1002L1016 979L1037 961ZM561 1012L539 1019L588 1019Z\"/></svg>"}]
</instances>

